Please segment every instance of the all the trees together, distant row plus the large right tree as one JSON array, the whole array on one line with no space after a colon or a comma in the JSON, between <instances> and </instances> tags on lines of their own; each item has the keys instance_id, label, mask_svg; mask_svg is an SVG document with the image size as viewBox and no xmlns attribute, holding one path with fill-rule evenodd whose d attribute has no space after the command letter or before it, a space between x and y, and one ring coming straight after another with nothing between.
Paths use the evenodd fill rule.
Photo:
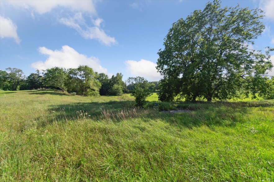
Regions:
<instances>
[{"instance_id":1,"label":"all the trees together, distant row plus the large right tree","mask_svg":"<svg viewBox=\"0 0 274 182\"><path fill-rule=\"evenodd\" d=\"M196 99L228 100L258 96L274 99L274 77L270 52L250 49L265 25L260 9L249 10L239 5L221 8L221 2L208 2L204 10L195 10L170 28L164 39L164 49L158 52L157 70L163 76L159 82L143 77L123 75L108 78L88 66L74 69L53 67L37 70L26 77L22 70L0 71L0 88L4 90L55 88L78 95L121 95L130 92L139 105L152 91L159 91L160 101L175 98L195 102Z\"/></svg>"}]
</instances>

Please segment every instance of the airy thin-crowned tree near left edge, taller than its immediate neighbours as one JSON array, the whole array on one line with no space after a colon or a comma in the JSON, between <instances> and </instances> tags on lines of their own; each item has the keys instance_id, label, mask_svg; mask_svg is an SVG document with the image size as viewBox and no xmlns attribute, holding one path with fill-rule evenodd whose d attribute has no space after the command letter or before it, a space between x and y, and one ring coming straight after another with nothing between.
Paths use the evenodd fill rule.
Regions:
<instances>
[{"instance_id":1,"label":"airy thin-crowned tree near left edge, taller than its immediate neighbours","mask_svg":"<svg viewBox=\"0 0 274 182\"><path fill-rule=\"evenodd\" d=\"M19 84L25 79L25 75L21 69L8 67L8 80L11 82L11 90L17 90Z\"/></svg>"}]
</instances>

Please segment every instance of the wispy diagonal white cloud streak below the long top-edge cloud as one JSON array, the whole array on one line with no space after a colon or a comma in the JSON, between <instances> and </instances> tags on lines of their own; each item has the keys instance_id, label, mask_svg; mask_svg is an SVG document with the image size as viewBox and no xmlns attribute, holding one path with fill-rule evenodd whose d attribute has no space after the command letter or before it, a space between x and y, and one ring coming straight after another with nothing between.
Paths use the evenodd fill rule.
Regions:
<instances>
[{"instance_id":1,"label":"wispy diagonal white cloud streak below the long top-edge cloud","mask_svg":"<svg viewBox=\"0 0 274 182\"><path fill-rule=\"evenodd\" d=\"M61 18L59 22L68 27L74 28L85 39L97 39L106 46L117 44L114 37L108 36L105 31L100 28L103 19L93 19L92 22L94 26L91 27L85 23L82 13L76 13L74 17Z\"/></svg>"}]
</instances>

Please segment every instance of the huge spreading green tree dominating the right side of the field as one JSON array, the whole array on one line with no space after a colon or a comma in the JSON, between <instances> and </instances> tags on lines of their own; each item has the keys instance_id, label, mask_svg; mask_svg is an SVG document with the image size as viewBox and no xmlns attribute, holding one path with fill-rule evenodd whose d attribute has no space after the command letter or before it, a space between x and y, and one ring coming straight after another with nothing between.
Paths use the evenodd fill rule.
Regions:
<instances>
[{"instance_id":1,"label":"huge spreading green tree dominating the right side of the field","mask_svg":"<svg viewBox=\"0 0 274 182\"><path fill-rule=\"evenodd\" d=\"M180 95L196 98L229 99L240 93L260 92L273 65L266 53L249 45L265 26L259 9L224 7L220 1L206 4L169 30L164 50L159 50L157 69L163 75L160 100Z\"/></svg>"}]
</instances>

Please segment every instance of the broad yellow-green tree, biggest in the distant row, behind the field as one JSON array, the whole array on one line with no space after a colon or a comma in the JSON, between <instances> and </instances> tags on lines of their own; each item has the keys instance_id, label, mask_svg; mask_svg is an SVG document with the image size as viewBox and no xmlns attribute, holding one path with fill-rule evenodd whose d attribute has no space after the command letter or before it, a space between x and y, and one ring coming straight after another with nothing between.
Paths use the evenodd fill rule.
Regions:
<instances>
[{"instance_id":1,"label":"broad yellow-green tree, biggest in the distant row, behind the field","mask_svg":"<svg viewBox=\"0 0 274 182\"><path fill-rule=\"evenodd\" d=\"M75 89L77 94L84 96L97 96L101 84L96 80L92 68L80 65L78 68L71 68L68 71L70 90Z\"/></svg>"}]
</instances>

